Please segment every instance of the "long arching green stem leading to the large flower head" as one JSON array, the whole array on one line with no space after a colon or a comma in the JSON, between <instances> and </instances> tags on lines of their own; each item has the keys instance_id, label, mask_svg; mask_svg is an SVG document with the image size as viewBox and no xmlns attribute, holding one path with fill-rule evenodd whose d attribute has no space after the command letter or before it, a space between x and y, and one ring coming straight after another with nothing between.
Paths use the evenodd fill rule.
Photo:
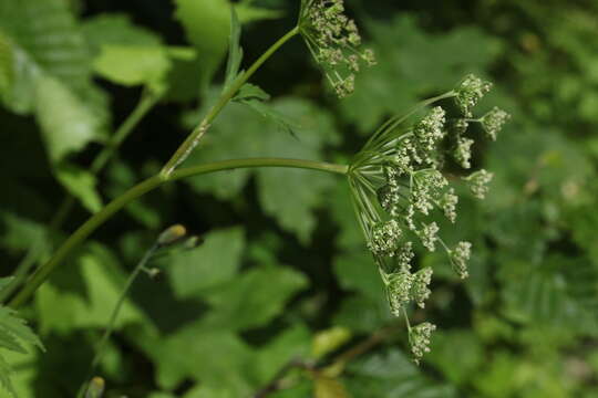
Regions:
<instances>
[{"instance_id":1,"label":"long arching green stem leading to the large flower head","mask_svg":"<svg viewBox=\"0 0 598 398\"><path fill-rule=\"evenodd\" d=\"M81 244L93 231L107 221L114 213L121 210L124 206L138 197L156 189L165 182L175 181L182 178L198 176L208 172L231 170L239 168L251 167L288 167L311 169L327 172L346 175L349 167L346 165L336 165L320 161L301 160L301 159L282 159L282 158L249 158L249 159L233 159L221 160L199 166L187 167L172 172L169 176L158 174L151 177L107 203L101 211L93 214L85 221L76 231L74 231L64 243L55 251L54 255L41 268L39 268L27 282L23 289L9 303L10 306L17 307L23 304L38 287L50 276L50 273L64 260L64 258L79 244Z\"/></svg>"}]
</instances>

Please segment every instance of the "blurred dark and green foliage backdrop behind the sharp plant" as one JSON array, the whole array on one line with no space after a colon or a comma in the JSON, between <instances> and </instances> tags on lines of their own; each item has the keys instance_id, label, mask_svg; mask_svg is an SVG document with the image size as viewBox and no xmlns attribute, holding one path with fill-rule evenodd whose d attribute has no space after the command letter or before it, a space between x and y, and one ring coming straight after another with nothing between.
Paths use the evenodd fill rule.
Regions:
<instances>
[{"instance_id":1,"label":"blurred dark and green foliage backdrop behind the sharp plant","mask_svg":"<svg viewBox=\"0 0 598 398\"><path fill-rule=\"evenodd\" d=\"M237 4L244 65L293 27L298 6ZM348 9L379 62L353 96L333 97L297 38L252 81L292 134L234 104L187 164L346 163L386 117L466 73L493 81L477 113L498 105L513 119L476 148L492 192L461 202L447 237L473 242L471 277L458 281L442 255L419 256L434 266L433 293L411 317L439 326L421 366L389 313L346 181L237 170L143 197L39 290L22 315L48 352L7 354L22 397L74 396L126 274L175 222L205 243L161 253L161 277L135 282L97 371L106 397L251 397L292 359L315 365L268 397L598 397L598 2ZM33 242L48 258L91 211L159 169L221 84L228 32L226 0L0 0L3 275ZM158 103L94 177L106 137L152 93ZM66 191L78 201L51 230ZM375 344L324 371L363 342Z\"/></svg>"}]
</instances>

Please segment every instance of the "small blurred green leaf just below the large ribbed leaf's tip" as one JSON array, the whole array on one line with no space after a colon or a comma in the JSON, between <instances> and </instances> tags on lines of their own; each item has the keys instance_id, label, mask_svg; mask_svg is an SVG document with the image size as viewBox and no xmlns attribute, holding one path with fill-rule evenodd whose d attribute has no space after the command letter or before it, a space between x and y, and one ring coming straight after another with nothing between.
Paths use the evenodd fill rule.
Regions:
<instances>
[{"instance_id":1,"label":"small blurred green leaf just below the large ribbed leaf's tip","mask_svg":"<svg viewBox=\"0 0 598 398\"><path fill-rule=\"evenodd\" d=\"M92 213L102 209L102 198L97 193L95 176L74 165L62 163L55 169L58 180L78 198Z\"/></svg>"}]
</instances>

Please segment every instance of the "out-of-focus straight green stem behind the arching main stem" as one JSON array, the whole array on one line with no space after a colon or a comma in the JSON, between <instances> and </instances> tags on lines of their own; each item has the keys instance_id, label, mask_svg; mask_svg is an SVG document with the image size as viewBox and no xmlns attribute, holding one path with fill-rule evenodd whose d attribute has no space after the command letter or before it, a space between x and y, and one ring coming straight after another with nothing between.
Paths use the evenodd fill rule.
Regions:
<instances>
[{"instance_id":1,"label":"out-of-focus straight green stem behind the arching main stem","mask_svg":"<svg viewBox=\"0 0 598 398\"><path fill-rule=\"evenodd\" d=\"M152 93L151 91L145 90L142 93L141 100L133 109L133 112L126 117L126 119L116 129L114 135L112 135L106 142L102 150L93 159L90 167L90 172L92 175L96 176L100 174L100 171L102 171L102 169L106 166L107 161L114 156L121 144L135 129L138 123L154 107L158 100L159 95ZM75 198L72 195L66 195L64 197L56 212L54 213L54 217L50 221L50 226L48 228L50 233L60 230L75 203ZM31 271L31 268L38 262L41 254L41 241L35 241L31 244L31 248L28 250L25 256L23 258L23 260L21 260L21 262L17 265L17 269L14 270L14 279L0 294L0 303L4 302L8 297L10 297L10 295L21 285L23 280Z\"/></svg>"}]
</instances>

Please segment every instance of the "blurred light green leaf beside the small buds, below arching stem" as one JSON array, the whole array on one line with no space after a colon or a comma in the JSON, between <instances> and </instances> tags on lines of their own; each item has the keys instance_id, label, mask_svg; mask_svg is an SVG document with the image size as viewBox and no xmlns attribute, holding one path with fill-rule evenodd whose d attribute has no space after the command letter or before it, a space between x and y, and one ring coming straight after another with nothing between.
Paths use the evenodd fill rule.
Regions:
<instances>
[{"instance_id":1,"label":"blurred light green leaf beside the small buds, below arching stem","mask_svg":"<svg viewBox=\"0 0 598 398\"><path fill-rule=\"evenodd\" d=\"M196 249L173 253L165 266L175 295L193 297L228 283L240 266L244 247L243 229L231 228L208 233Z\"/></svg>"}]
</instances>

